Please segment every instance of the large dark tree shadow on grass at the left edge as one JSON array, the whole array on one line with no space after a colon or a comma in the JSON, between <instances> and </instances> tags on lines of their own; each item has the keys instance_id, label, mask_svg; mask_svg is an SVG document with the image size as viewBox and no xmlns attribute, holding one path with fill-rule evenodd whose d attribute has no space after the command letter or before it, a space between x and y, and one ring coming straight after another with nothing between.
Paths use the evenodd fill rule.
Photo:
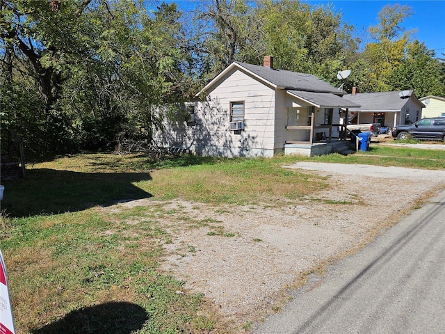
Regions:
<instances>
[{"instance_id":1,"label":"large dark tree shadow on grass at the left edge","mask_svg":"<svg viewBox=\"0 0 445 334\"><path fill-rule=\"evenodd\" d=\"M28 170L24 180L3 182L1 212L9 217L76 212L152 197L133 182L151 180L149 173L79 173Z\"/></svg>"}]
</instances>

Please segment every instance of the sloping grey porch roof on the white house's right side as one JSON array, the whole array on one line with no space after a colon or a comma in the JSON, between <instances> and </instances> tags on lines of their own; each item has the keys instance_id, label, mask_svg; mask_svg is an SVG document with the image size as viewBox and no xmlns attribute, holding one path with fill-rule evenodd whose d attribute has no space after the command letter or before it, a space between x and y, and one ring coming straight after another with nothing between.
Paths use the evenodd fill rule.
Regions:
<instances>
[{"instance_id":1,"label":"sloping grey porch roof on the white house's right side","mask_svg":"<svg viewBox=\"0 0 445 334\"><path fill-rule=\"evenodd\" d=\"M286 90L286 92L317 108L358 108L360 106L332 93L307 92L305 90Z\"/></svg>"}]
</instances>

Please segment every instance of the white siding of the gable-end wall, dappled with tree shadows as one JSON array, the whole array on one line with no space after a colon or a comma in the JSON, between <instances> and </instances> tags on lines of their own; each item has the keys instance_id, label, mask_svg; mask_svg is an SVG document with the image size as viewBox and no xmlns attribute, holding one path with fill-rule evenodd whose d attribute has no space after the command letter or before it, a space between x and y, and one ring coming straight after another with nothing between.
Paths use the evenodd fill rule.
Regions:
<instances>
[{"instance_id":1,"label":"white siding of the gable-end wall, dappled with tree shadows","mask_svg":"<svg viewBox=\"0 0 445 334\"><path fill-rule=\"evenodd\" d=\"M244 102L244 130L229 130L230 102ZM273 157L275 91L240 70L234 70L195 103L195 124L166 125L156 136L163 145L181 146L191 152L221 157ZM166 144L165 144L166 143Z\"/></svg>"}]
</instances>

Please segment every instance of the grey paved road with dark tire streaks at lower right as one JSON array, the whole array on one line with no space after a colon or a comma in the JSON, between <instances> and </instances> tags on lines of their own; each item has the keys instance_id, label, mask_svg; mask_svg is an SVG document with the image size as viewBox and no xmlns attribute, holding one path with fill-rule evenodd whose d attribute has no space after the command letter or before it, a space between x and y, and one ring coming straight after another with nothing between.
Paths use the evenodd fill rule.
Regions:
<instances>
[{"instance_id":1,"label":"grey paved road with dark tire streaks at lower right","mask_svg":"<svg viewBox=\"0 0 445 334\"><path fill-rule=\"evenodd\" d=\"M445 333L445 191L253 333Z\"/></svg>"}]
</instances>

